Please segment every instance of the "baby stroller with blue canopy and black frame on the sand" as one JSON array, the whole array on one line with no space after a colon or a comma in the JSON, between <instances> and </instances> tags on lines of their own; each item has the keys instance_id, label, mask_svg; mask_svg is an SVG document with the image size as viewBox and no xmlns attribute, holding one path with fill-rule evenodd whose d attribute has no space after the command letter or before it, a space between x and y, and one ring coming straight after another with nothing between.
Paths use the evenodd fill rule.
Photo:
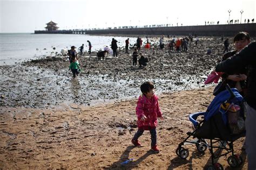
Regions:
<instances>
[{"instance_id":1,"label":"baby stroller with blue canopy and black frame on the sand","mask_svg":"<svg viewBox=\"0 0 256 170\"><path fill-rule=\"evenodd\" d=\"M243 112L242 109L239 110L243 99L237 89L230 89L228 85L226 89L227 90L221 91L221 93L215 96L206 112L190 114L189 119L194 126L194 131L187 132L187 138L179 144L176 150L178 157L181 159L188 157L188 150L184 148L183 145L190 143L196 144L199 152L205 152L207 147L209 148L212 165L208 166L206 169L224 169L218 162L214 164L214 159L220 158L228 153L232 153L227 159L231 167L238 167L242 164L243 160L240 155L234 154L233 141L245 136L244 117L241 116ZM237 107L239 111L235 110L235 107ZM235 111L230 112L232 109ZM203 120L197 121L200 116ZM231 122L234 119L235 124L232 124ZM189 140L190 138L197 139ZM210 139L210 144L208 144L205 139ZM223 150L225 153L221 154L220 152L218 155L215 155L214 150Z\"/></svg>"}]
</instances>

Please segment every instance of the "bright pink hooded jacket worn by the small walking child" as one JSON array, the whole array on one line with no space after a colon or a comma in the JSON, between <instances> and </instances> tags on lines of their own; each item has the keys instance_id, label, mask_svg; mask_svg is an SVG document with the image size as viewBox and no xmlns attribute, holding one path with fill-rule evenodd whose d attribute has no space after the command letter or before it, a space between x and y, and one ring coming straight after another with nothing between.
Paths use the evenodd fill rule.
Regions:
<instances>
[{"instance_id":1,"label":"bright pink hooded jacket worn by the small walking child","mask_svg":"<svg viewBox=\"0 0 256 170\"><path fill-rule=\"evenodd\" d=\"M149 130L151 128L156 128L157 117L162 116L158 105L158 97L154 95L149 99L145 95L140 95L137 102L136 115L138 117L138 129ZM140 121L143 115L145 115L147 119L145 121Z\"/></svg>"}]
</instances>

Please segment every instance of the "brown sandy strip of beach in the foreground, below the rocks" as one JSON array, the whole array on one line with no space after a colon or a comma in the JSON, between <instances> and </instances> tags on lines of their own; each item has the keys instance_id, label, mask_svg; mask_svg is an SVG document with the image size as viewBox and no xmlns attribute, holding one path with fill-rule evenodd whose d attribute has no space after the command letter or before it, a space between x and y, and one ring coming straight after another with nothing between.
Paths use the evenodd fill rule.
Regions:
<instances>
[{"instance_id":1,"label":"brown sandy strip of beach in the foreground, below the rocks","mask_svg":"<svg viewBox=\"0 0 256 170\"><path fill-rule=\"evenodd\" d=\"M134 147L136 100L84 105L58 105L44 109L2 108L0 122L1 168L3 169L203 169L211 164L210 152L190 151L186 160L175 151L186 132L192 131L188 115L205 111L212 88L179 91L159 96L165 117L157 128L160 153L150 151L150 133ZM240 138L234 152L246 159ZM228 157L228 155L227 155ZM230 169L227 157L218 162ZM121 165L133 158L129 164ZM247 161L238 169L246 169Z\"/></svg>"}]
</instances>

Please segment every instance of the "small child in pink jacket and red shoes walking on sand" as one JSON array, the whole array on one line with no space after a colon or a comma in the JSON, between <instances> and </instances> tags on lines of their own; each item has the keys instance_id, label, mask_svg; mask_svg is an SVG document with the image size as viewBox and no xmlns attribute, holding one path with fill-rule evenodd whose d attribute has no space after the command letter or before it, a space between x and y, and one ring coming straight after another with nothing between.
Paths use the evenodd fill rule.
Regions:
<instances>
[{"instance_id":1,"label":"small child in pink jacket and red shoes walking on sand","mask_svg":"<svg viewBox=\"0 0 256 170\"><path fill-rule=\"evenodd\" d=\"M132 138L134 146L141 146L138 138L142 136L144 130L149 130L151 134L151 150L159 153L157 147L157 118L164 120L158 105L158 97L154 95L154 85L151 82L144 82L140 86L142 95L139 96L136 115L138 117L138 131Z\"/></svg>"}]
</instances>

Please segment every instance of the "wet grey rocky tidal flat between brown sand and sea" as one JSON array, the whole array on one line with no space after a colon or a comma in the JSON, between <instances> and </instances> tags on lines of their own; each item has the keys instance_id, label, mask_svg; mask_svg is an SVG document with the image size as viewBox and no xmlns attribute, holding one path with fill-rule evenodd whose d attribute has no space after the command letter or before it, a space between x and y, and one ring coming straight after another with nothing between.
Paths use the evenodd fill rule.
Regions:
<instances>
[{"instance_id":1,"label":"wet grey rocky tidal flat between brown sand and sea","mask_svg":"<svg viewBox=\"0 0 256 170\"><path fill-rule=\"evenodd\" d=\"M118 58L107 56L98 61L96 53L80 56L84 69L73 80L65 57L46 57L15 66L1 66L1 106L45 107L59 103L95 104L138 96L143 81L156 84L157 93L204 87L204 80L221 59L223 42L202 37L198 46L188 45L187 52L160 49L157 38L151 38L151 49L142 49L149 59L145 68L132 66L132 50L118 50ZM171 39L165 38L166 42ZM207 49L212 53L207 55Z\"/></svg>"}]
</instances>

